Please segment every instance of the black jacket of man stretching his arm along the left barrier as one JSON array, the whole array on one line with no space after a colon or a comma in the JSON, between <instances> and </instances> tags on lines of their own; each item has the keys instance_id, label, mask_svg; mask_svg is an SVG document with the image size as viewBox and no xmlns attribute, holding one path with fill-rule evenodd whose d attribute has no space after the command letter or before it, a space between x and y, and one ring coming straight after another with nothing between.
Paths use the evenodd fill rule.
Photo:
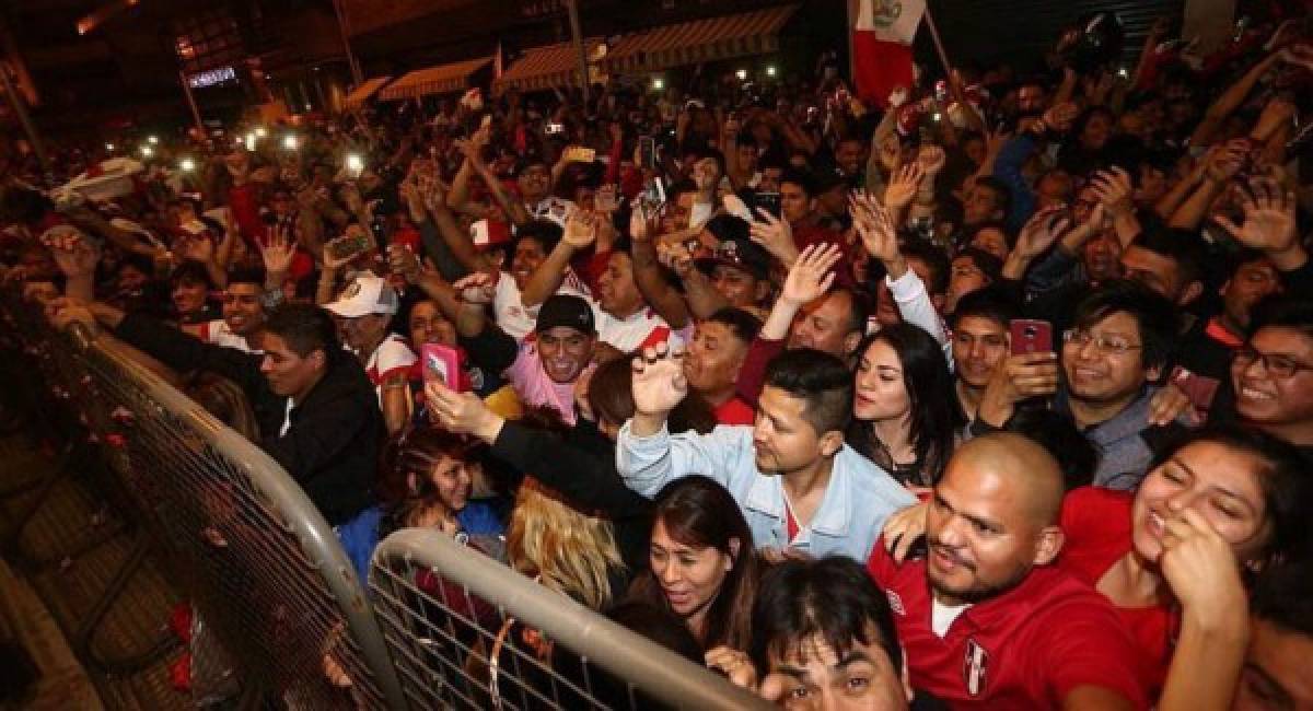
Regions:
<instances>
[{"instance_id":1,"label":"black jacket of man stretching his arm along the left barrier","mask_svg":"<svg viewBox=\"0 0 1313 711\"><path fill-rule=\"evenodd\" d=\"M175 370L209 370L236 383L260 422L260 449L305 488L330 525L373 504L383 417L373 384L349 354L328 356L328 370L291 411L288 434L280 436L288 397L269 390L260 356L206 344L133 314L116 335Z\"/></svg>"}]
</instances>

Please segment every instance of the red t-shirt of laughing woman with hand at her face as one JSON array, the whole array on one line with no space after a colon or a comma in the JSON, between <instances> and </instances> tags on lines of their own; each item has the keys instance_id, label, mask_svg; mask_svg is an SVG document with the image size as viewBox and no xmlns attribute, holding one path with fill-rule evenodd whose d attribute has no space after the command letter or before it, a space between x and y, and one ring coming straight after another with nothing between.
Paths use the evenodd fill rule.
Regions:
<instances>
[{"instance_id":1,"label":"red t-shirt of laughing woman with hand at her face","mask_svg":"<svg viewBox=\"0 0 1313 711\"><path fill-rule=\"evenodd\" d=\"M1112 565L1130 552L1130 508L1134 495L1098 487L1073 489L1062 500L1062 533L1066 542L1058 567L1091 588ZM1162 693L1173 647L1179 630L1179 614L1163 605L1117 607L1130 636L1140 648L1140 678L1152 698Z\"/></svg>"}]
</instances>

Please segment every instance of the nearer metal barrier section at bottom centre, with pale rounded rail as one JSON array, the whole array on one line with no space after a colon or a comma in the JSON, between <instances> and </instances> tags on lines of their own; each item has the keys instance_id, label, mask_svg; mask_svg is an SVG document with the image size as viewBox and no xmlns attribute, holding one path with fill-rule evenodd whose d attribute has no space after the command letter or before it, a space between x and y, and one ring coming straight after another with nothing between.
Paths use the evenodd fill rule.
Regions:
<instances>
[{"instance_id":1,"label":"nearer metal barrier section at bottom centre, with pale rounded rail","mask_svg":"<svg viewBox=\"0 0 1313 711\"><path fill-rule=\"evenodd\" d=\"M433 530L387 537L369 584L411 708L771 708Z\"/></svg>"}]
</instances>

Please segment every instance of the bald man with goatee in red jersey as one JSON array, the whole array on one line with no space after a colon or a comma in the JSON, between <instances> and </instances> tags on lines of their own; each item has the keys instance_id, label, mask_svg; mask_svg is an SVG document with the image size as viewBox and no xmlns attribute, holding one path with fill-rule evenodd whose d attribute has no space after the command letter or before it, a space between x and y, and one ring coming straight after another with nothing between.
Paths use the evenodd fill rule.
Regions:
<instances>
[{"instance_id":1,"label":"bald man with goatee in red jersey","mask_svg":"<svg viewBox=\"0 0 1313 711\"><path fill-rule=\"evenodd\" d=\"M964 443L926 512L926 555L867 564L894 611L911 685L955 708L1146 708L1136 645L1108 601L1050 565L1057 460L1020 434Z\"/></svg>"}]
</instances>

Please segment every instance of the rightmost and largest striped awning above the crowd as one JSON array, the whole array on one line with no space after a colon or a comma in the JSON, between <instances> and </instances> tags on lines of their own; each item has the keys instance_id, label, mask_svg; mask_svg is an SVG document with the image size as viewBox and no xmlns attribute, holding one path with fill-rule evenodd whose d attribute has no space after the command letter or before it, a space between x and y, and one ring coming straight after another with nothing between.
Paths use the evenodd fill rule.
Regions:
<instances>
[{"instance_id":1,"label":"rightmost and largest striped awning above the crowd","mask_svg":"<svg viewBox=\"0 0 1313 711\"><path fill-rule=\"evenodd\" d=\"M620 39L603 59L608 72L651 72L668 67L769 54L797 5L667 25Z\"/></svg>"}]
</instances>

